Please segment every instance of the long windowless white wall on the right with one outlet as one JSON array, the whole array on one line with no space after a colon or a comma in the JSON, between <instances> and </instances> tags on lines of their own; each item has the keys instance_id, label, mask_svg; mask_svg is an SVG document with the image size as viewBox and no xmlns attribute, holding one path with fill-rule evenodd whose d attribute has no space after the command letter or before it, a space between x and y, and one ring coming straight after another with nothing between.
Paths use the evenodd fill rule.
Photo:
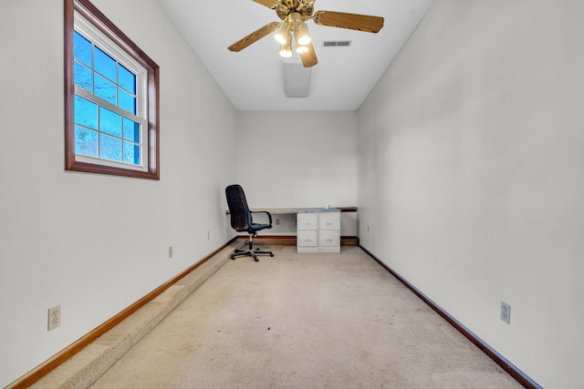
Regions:
<instances>
[{"instance_id":1,"label":"long windowless white wall on the right with one outlet","mask_svg":"<svg viewBox=\"0 0 584 389\"><path fill-rule=\"evenodd\" d=\"M362 245L550 388L582 383L582 15L436 0L358 112Z\"/></svg>"}]
</instances>

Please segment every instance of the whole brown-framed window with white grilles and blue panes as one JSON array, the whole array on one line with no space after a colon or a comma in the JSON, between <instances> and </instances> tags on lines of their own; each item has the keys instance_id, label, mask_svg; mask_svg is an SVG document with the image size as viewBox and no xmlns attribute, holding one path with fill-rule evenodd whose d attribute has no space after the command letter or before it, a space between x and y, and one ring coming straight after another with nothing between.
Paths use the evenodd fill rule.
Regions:
<instances>
[{"instance_id":1,"label":"whole brown-framed window with white grilles and blue panes","mask_svg":"<svg viewBox=\"0 0 584 389\"><path fill-rule=\"evenodd\" d=\"M66 169L160 179L159 68L88 0L65 0Z\"/></svg>"}]
</instances>

